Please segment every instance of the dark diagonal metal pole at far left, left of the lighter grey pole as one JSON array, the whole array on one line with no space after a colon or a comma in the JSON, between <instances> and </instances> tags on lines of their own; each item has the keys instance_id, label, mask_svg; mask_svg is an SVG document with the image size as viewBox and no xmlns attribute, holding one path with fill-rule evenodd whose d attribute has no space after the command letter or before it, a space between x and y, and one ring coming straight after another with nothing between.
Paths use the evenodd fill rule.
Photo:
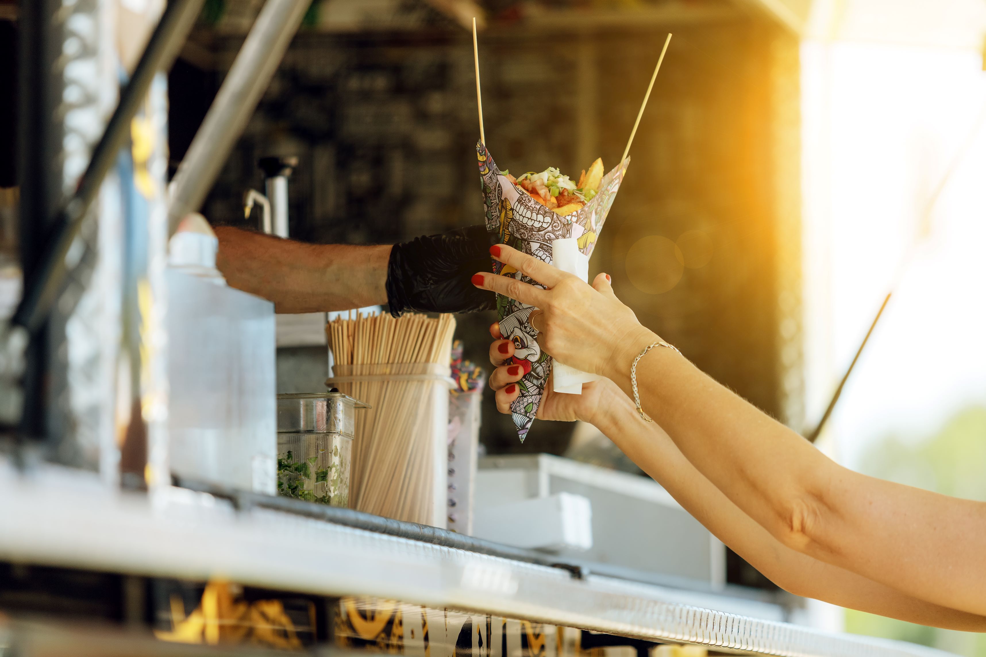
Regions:
<instances>
[{"instance_id":1,"label":"dark diagonal metal pole at far left, left of the lighter grey pole","mask_svg":"<svg viewBox=\"0 0 986 657\"><path fill-rule=\"evenodd\" d=\"M106 124L103 138L96 145L93 158L82 174L75 194L59 213L53 234L44 244L37 266L33 267L31 279L25 286L24 297L14 315L14 324L34 332L47 316L48 309L65 280L65 255L82 227L82 220L96 198L106 172L116 161L120 148L130 135L130 121L147 97L147 90L150 89L154 76L171 65L198 17L202 2L203 0L174 0L168 3L130 82L120 95L119 104Z\"/></svg>"}]
</instances>

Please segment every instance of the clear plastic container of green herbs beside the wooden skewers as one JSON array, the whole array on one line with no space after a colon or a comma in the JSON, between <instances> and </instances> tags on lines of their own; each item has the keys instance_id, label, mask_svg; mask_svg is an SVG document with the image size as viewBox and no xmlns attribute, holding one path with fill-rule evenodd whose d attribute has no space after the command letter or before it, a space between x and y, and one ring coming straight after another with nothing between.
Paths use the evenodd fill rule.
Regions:
<instances>
[{"instance_id":1,"label":"clear plastic container of green herbs beside the wooden skewers","mask_svg":"<svg viewBox=\"0 0 986 657\"><path fill-rule=\"evenodd\" d=\"M349 505L356 409L368 405L341 392L277 396L277 492Z\"/></svg>"}]
</instances>

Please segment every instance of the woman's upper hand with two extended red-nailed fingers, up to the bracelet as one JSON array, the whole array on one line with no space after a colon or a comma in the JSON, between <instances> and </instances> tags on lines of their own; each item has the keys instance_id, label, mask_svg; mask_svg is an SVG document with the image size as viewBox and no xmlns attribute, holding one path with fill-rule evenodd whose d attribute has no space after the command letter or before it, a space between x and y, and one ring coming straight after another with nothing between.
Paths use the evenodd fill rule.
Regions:
<instances>
[{"instance_id":1,"label":"woman's upper hand with two extended red-nailed fingers, up to the bracelet","mask_svg":"<svg viewBox=\"0 0 986 657\"><path fill-rule=\"evenodd\" d=\"M472 284L539 308L532 315L534 328L540 331L537 342L557 361L609 376L614 368L628 369L644 347L658 340L616 298L607 274L599 274L590 287L505 244L490 247L490 253L548 289L490 273L476 274Z\"/></svg>"}]
</instances>

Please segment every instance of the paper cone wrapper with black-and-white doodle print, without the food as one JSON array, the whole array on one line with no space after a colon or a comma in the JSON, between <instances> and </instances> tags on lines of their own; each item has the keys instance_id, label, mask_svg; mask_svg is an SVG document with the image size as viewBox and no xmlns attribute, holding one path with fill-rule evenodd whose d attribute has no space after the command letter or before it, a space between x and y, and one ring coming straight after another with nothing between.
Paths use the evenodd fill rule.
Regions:
<instances>
[{"instance_id":1,"label":"paper cone wrapper with black-and-white doodle print, without the food","mask_svg":"<svg viewBox=\"0 0 986 657\"><path fill-rule=\"evenodd\" d=\"M587 256L592 255L606 214L612 207L626 166L630 163L627 158L625 163L611 169L602 177L599 192L592 201L579 212L562 217L530 198L526 191L500 173L482 142L476 144L476 155L483 183L486 229L496 235L501 244L509 244L548 264L551 264L551 242L564 237L578 238L579 250ZM538 288L544 287L496 260L493 261L493 273L513 276ZM530 325L532 305L497 295L496 307L500 317L500 333L514 343L514 361L530 362L530 371L518 383L521 396L511 406L517 434L524 442L551 374L551 357L537 345L537 331Z\"/></svg>"}]
</instances>

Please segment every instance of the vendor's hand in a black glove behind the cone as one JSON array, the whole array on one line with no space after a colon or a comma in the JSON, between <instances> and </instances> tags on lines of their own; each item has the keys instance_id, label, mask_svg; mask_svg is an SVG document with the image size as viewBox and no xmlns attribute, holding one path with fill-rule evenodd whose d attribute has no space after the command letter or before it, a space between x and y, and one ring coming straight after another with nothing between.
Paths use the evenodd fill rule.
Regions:
<instances>
[{"instance_id":1,"label":"vendor's hand in a black glove behind the cone","mask_svg":"<svg viewBox=\"0 0 986 657\"><path fill-rule=\"evenodd\" d=\"M387 263L390 314L495 308L496 295L470 281L476 272L491 270L490 239L485 227L470 226L394 244Z\"/></svg>"}]
</instances>

